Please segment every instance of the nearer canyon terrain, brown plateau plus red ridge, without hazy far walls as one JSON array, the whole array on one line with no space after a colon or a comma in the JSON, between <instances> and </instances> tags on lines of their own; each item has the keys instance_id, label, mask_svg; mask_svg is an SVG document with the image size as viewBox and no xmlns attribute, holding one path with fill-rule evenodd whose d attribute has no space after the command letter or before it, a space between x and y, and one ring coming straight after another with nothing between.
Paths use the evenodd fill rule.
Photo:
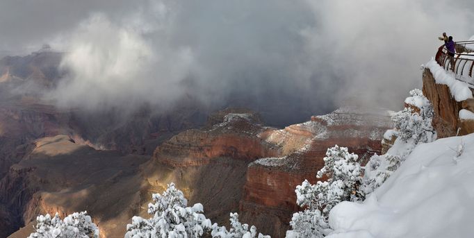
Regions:
<instances>
[{"instance_id":1,"label":"nearer canyon terrain, brown plateau plus red ridge, without hazy far walls","mask_svg":"<svg viewBox=\"0 0 474 238\"><path fill-rule=\"evenodd\" d=\"M10 211L4 217L31 230L38 214L88 210L104 237L120 237L131 216L147 216L151 194L175 182L213 221L227 224L229 213L239 212L242 221L282 237L299 209L294 189L316 180L327 147L349 146L361 160L379 153L389 114L370 113L342 108L277 129L254 112L224 110L163 142L151 157L97 150L70 135L42 137L18 148L22 158L0 182Z\"/></svg>"}]
</instances>

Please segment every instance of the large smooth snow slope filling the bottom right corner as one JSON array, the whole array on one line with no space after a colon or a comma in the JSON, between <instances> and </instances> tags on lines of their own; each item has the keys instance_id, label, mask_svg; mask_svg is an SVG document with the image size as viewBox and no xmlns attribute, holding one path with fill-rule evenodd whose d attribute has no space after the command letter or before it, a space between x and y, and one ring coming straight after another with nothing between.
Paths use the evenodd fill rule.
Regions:
<instances>
[{"instance_id":1,"label":"large smooth snow slope filling the bottom right corner","mask_svg":"<svg viewBox=\"0 0 474 238\"><path fill-rule=\"evenodd\" d=\"M472 237L473 180L474 134L419 144L366 201L331 210L328 237Z\"/></svg>"}]
</instances>

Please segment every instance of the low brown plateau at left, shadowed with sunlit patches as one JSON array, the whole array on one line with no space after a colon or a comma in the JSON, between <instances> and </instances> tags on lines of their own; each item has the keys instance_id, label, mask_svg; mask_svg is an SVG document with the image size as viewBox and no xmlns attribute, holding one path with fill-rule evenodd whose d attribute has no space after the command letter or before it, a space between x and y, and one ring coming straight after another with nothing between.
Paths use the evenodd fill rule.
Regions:
<instances>
[{"instance_id":1,"label":"low brown plateau at left, shadowed with sunlit patches","mask_svg":"<svg viewBox=\"0 0 474 238\"><path fill-rule=\"evenodd\" d=\"M46 212L88 210L106 237L124 234L124 221L139 210L138 166L147 156L96 151L65 135L28 147L0 182L2 201L21 215L16 222L29 223Z\"/></svg>"}]
</instances>

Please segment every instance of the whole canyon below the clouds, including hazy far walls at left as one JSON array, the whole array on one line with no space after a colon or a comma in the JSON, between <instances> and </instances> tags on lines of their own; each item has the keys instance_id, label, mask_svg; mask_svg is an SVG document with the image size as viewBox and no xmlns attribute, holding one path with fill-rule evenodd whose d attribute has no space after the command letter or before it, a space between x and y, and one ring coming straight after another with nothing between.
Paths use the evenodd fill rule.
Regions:
<instances>
[{"instance_id":1,"label":"whole canyon below the clouds, including hazy far walls at left","mask_svg":"<svg viewBox=\"0 0 474 238\"><path fill-rule=\"evenodd\" d=\"M38 214L81 210L102 237L122 237L170 182L213 222L228 225L238 212L260 232L283 237L300 210L295 187L316 182L327 148L347 146L364 163L381 153L392 127L390 112L356 106L284 128L265 126L245 108L211 113L193 99L160 113L143 105L128 117L117 108L57 108L35 91L67 74L54 69L58 60L44 60L55 57L0 60L0 237L25 237ZM35 90L25 89L33 78L41 79Z\"/></svg>"}]
</instances>

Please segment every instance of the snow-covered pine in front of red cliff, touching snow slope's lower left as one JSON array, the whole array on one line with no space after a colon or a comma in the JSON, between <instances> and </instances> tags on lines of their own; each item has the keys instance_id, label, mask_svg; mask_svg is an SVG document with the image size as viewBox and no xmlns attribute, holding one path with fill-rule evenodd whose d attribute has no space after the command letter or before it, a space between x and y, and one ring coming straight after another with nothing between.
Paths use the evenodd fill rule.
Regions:
<instances>
[{"instance_id":1,"label":"snow-covered pine in front of red cliff, touching snow slope's lower left","mask_svg":"<svg viewBox=\"0 0 474 238\"><path fill-rule=\"evenodd\" d=\"M364 194L359 192L361 165L358 156L349 153L348 148L328 148L323 159L325 166L317 173L318 178L327 177L325 182L311 185L304 180L296 187L296 203L303 212L293 214L287 237L324 237L330 231L327 224L329 211L342 201L360 201Z\"/></svg>"}]
</instances>

